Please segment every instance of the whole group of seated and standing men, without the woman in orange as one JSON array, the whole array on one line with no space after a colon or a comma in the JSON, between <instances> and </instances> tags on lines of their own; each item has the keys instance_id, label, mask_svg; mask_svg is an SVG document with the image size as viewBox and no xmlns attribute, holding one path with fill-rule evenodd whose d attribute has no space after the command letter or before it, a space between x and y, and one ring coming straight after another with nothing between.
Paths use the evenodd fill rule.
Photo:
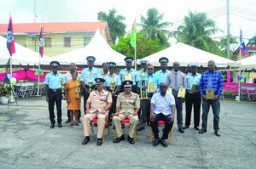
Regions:
<instances>
[{"instance_id":1,"label":"whole group of seated and standing men, without the woman in orange","mask_svg":"<svg viewBox=\"0 0 256 169\"><path fill-rule=\"evenodd\" d=\"M108 117L113 115L113 125L117 138L113 143L125 139L121 121L130 120L128 141L135 144L134 131L143 130L147 125L154 132L153 145L159 143L167 146L166 138L172 130L175 110L177 110L177 128L183 133L189 128L191 110L194 105L194 128L199 133L207 132L207 114L210 105L213 111L213 128L216 136L220 136L219 122L219 96L223 90L223 76L215 70L214 61L208 62L208 70L202 75L197 72L198 64L189 64L189 73L185 75L179 70L179 63L173 63L173 70L167 70L169 60L166 57L159 59L161 69L154 72L154 65L147 60L141 60L141 70L132 69L133 59L125 58L125 69L114 73L116 64L108 62L102 64L102 71L94 66L96 58L88 56L87 68L82 70L80 81L84 91L84 140L82 144L90 141L90 121L97 118L97 145L102 145L102 134ZM50 63L52 71L45 77L46 100L49 102L50 127L55 127L54 104L57 107L58 127L61 125L61 85L68 79L68 73L74 71L75 65L70 65L70 72L65 76L57 72L60 64L56 61ZM63 81L62 81L63 79ZM185 94L181 96L182 89ZM213 98L208 97L209 91ZM186 119L183 126L183 102L186 106ZM202 103L202 125L200 124L200 111ZM67 113L68 116L68 113ZM159 138L158 121L165 121L162 138ZM69 118L67 119L69 122Z\"/></svg>"}]
</instances>

